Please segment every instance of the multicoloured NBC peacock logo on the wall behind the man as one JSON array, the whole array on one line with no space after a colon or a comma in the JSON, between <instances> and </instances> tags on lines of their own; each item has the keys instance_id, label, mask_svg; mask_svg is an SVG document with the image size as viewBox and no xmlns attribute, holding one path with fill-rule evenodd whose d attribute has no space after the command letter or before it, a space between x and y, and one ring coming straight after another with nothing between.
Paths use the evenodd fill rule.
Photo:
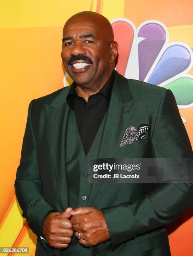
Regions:
<instances>
[{"instance_id":1,"label":"multicoloured NBC peacock logo on the wall behind the man","mask_svg":"<svg viewBox=\"0 0 193 256\"><path fill-rule=\"evenodd\" d=\"M193 52L183 42L168 44L168 29L158 20L147 20L138 28L127 18L111 21L119 45L116 70L126 78L170 89L178 108L193 106ZM67 86L68 75L64 76ZM182 117L183 122L187 120Z\"/></svg>"}]
</instances>

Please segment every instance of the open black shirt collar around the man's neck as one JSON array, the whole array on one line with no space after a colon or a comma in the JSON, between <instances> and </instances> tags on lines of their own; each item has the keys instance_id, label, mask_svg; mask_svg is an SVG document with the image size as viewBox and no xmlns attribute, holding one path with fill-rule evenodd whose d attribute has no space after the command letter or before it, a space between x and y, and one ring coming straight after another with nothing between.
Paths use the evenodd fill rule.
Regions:
<instances>
[{"instance_id":1,"label":"open black shirt collar around the man's neck","mask_svg":"<svg viewBox=\"0 0 193 256\"><path fill-rule=\"evenodd\" d=\"M110 101L110 95L111 95L111 91L112 91L112 87L113 87L113 82L114 82L114 79L115 79L115 74L116 74L116 71L113 70L113 72L111 73L107 82L104 84L104 86L98 92L98 93L102 94L105 97L106 102L107 102L107 106L108 106L109 101ZM70 86L70 90L69 90L68 95L66 97L66 101L67 101L68 105L71 108L73 108L73 95L77 98L80 97L80 96L78 96L75 89L76 89L76 83L73 82L73 84Z\"/></svg>"}]
</instances>

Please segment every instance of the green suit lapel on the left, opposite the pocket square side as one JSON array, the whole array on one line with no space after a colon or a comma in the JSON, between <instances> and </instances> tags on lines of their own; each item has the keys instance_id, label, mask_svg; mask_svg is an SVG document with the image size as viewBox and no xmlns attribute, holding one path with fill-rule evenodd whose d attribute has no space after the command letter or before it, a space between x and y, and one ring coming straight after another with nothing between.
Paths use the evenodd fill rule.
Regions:
<instances>
[{"instance_id":1,"label":"green suit lapel on the left, opposite the pocket square side","mask_svg":"<svg viewBox=\"0 0 193 256\"><path fill-rule=\"evenodd\" d=\"M47 115L47 139L63 208L68 207L68 190L65 169L65 129L69 106L66 102L70 87L64 88L50 103L45 105Z\"/></svg>"}]
</instances>

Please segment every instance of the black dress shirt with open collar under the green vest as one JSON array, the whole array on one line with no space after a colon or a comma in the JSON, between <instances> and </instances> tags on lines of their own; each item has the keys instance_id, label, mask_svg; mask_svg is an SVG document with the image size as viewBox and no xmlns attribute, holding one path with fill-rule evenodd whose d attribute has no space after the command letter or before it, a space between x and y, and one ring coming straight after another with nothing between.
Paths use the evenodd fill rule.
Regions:
<instances>
[{"instance_id":1,"label":"black dress shirt with open collar under the green vest","mask_svg":"<svg viewBox=\"0 0 193 256\"><path fill-rule=\"evenodd\" d=\"M113 70L110 78L100 91L88 97L88 102L83 97L77 95L75 82L71 85L66 97L68 105L75 112L76 124L85 155L88 154L107 111L115 73L116 71Z\"/></svg>"}]
</instances>

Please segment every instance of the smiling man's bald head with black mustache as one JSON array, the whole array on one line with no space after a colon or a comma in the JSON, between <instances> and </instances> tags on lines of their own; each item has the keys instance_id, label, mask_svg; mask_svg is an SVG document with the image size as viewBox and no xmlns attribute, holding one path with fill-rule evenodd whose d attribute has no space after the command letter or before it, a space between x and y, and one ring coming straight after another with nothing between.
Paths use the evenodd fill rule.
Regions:
<instances>
[{"instance_id":1,"label":"smiling man's bald head with black mustache","mask_svg":"<svg viewBox=\"0 0 193 256\"><path fill-rule=\"evenodd\" d=\"M90 11L70 17L63 28L62 60L73 81L96 92L115 68L118 44L103 15Z\"/></svg>"}]
</instances>

